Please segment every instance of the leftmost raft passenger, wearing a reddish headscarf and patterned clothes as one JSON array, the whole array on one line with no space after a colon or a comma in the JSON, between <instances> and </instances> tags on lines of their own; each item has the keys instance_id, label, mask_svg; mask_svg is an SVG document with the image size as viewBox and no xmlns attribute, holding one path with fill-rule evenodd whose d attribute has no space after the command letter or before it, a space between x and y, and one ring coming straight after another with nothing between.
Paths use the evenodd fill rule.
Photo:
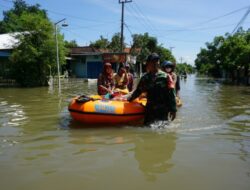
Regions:
<instances>
[{"instance_id":1,"label":"leftmost raft passenger, wearing a reddish headscarf and patterned clothes","mask_svg":"<svg viewBox=\"0 0 250 190\"><path fill-rule=\"evenodd\" d=\"M97 80L97 91L99 95L106 95L107 93L112 94L115 88L113 80L113 70L110 63L105 63L103 71L100 73Z\"/></svg>"}]
</instances>

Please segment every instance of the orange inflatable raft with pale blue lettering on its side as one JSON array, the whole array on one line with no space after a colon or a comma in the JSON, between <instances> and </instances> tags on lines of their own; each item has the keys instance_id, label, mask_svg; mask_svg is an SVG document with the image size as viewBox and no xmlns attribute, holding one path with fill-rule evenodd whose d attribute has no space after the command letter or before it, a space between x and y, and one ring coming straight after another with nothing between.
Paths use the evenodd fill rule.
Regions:
<instances>
[{"instance_id":1,"label":"orange inflatable raft with pale blue lettering on its side","mask_svg":"<svg viewBox=\"0 0 250 190\"><path fill-rule=\"evenodd\" d=\"M122 124L144 118L146 99L128 102L107 100L101 96L79 96L69 104L72 118L86 124Z\"/></svg>"}]
</instances>

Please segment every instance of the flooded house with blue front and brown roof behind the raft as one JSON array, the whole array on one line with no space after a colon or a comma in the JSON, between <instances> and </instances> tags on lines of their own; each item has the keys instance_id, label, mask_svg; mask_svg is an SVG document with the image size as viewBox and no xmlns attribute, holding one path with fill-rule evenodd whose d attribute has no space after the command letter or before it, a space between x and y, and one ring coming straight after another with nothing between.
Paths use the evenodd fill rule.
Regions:
<instances>
[{"instance_id":1,"label":"flooded house with blue front and brown roof behind the raft","mask_svg":"<svg viewBox=\"0 0 250 190\"><path fill-rule=\"evenodd\" d=\"M90 46L74 47L70 49L71 59L67 62L67 69L71 77L95 79L102 72L104 63L111 63L117 71L119 63L126 62L126 55Z\"/></svg>"}]
</instances>

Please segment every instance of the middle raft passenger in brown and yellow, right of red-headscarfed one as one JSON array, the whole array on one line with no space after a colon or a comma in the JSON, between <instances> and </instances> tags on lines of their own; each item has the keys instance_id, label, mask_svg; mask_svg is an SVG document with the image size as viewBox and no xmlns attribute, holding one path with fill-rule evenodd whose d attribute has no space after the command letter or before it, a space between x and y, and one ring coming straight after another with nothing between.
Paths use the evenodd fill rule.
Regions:
<instances>
[{"instance_id":1,"label":"middle raft passenger in brown and yellow, right of red-headscarfed one","mask_svg":"<svg viewBox=\"0 0 250 190\"><path fill-rule=\"evenodd\" d=\"M128 73L123 64L120 65L118 73L114 76L115 90L121 94L127 94L128 91Z\"/></svg>"}]
</instances>

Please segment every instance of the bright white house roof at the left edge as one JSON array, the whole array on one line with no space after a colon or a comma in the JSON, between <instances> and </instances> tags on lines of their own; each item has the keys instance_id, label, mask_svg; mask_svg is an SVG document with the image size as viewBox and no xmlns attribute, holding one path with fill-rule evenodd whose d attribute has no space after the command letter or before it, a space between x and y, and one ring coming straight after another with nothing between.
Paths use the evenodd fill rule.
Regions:
<instances>
[{"instance_id":1,"label":"bright white house roof at the left edge","mask_svg":"<svg viewBox=\"0 0 250 190\"><path fill-rule=\"evenodd\" d=\"M0 50L13 49L19 42L15 36L19 33L0 34Z\"/></svg>"}]
</instances>

